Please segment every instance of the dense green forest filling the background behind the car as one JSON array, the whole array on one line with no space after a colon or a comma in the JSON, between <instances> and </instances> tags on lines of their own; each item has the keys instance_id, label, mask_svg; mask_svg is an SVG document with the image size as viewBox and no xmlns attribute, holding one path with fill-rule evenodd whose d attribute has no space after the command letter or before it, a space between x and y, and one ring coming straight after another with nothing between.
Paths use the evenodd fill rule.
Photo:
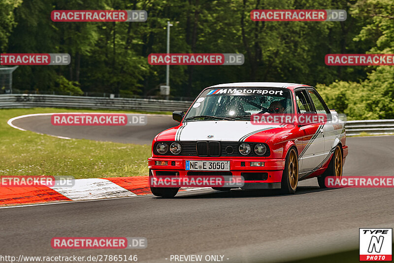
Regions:
<instances>
[{"instance_id":1,"label":"dense green forest filling the background behind the car","mask_svg":"<svg viewBox=\"0 0 394 263\"><path fill-rule=\"evenodd\" d=\"M143 23L52 22L52 10L146 10ZM345 9L344 22L253 22L253 9ZM171 66L173 97L228 82L317 86L353 119L394 118L392 66L326 66L328 53L394 53L393 0L1 0L1 53L69 53L69 66L20 66L20 90L158 95L171 21L172 53L242 53L242 66Z\"/></svg>"}]
</instances>

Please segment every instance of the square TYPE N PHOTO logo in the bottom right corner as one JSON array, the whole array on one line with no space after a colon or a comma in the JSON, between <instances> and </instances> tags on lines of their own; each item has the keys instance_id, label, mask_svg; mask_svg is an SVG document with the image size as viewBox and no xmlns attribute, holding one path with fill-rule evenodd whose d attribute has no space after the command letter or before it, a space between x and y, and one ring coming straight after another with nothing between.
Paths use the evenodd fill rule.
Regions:
<instances>
[{"instance_id":1,"label":"square TYPE N PHOTO logo in the bottom right corner","mask_svg":"<svg viewBox=\"0 0 394 263\"><path fill-rule=\"evenodd\" d=\"M392 261L393 229L360 229L360 261Z\"/></svg>"}]
</instances>

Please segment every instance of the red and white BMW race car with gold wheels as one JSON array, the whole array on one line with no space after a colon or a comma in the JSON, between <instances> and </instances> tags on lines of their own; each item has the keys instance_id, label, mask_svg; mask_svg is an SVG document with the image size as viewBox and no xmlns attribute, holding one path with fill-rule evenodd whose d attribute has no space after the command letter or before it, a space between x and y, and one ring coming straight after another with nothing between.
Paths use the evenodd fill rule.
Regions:
<instances>
[{"instance_id":1,"label":"red and white BMW race car with gold wheels","mask_svg":"<svg viewBox=\"0 0 394 263\"><path fill-rule=\"evenodd\" d=\"M165 183L164 177L179 182L196 176L239 177L242 182L235 187L211 186L295 193L300 180L317 177L319 186L326 187L327 176L342 176L348 154L344 122L313 87L216 85L204 89L186 114L174 111L172 116L180 124L156 135L148 159L155 196L174 197L184 186Z\"/></svg>"}]
</instances>

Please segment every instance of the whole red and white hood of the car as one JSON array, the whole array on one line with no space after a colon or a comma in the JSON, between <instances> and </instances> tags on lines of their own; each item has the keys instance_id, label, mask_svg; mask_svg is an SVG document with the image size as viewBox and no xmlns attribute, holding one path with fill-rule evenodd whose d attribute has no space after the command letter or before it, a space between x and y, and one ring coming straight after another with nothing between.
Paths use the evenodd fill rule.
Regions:
<instances>
[{"instance_id":1,"label":"whole red and white hood of the car","mask_svg":"<svg viewBox=\"0 0 394 263\"><path fill-rule=\"evenodd\" d=\"M290 125L293 127L293 125ZM192 121L168 129L156 138L160 141L265 141L283 132L289 125L253 125L248 121ZM276 129L280 128L280 130ZM249 139L248 139L249 138Z\"/></svg>"}]
</instances>

